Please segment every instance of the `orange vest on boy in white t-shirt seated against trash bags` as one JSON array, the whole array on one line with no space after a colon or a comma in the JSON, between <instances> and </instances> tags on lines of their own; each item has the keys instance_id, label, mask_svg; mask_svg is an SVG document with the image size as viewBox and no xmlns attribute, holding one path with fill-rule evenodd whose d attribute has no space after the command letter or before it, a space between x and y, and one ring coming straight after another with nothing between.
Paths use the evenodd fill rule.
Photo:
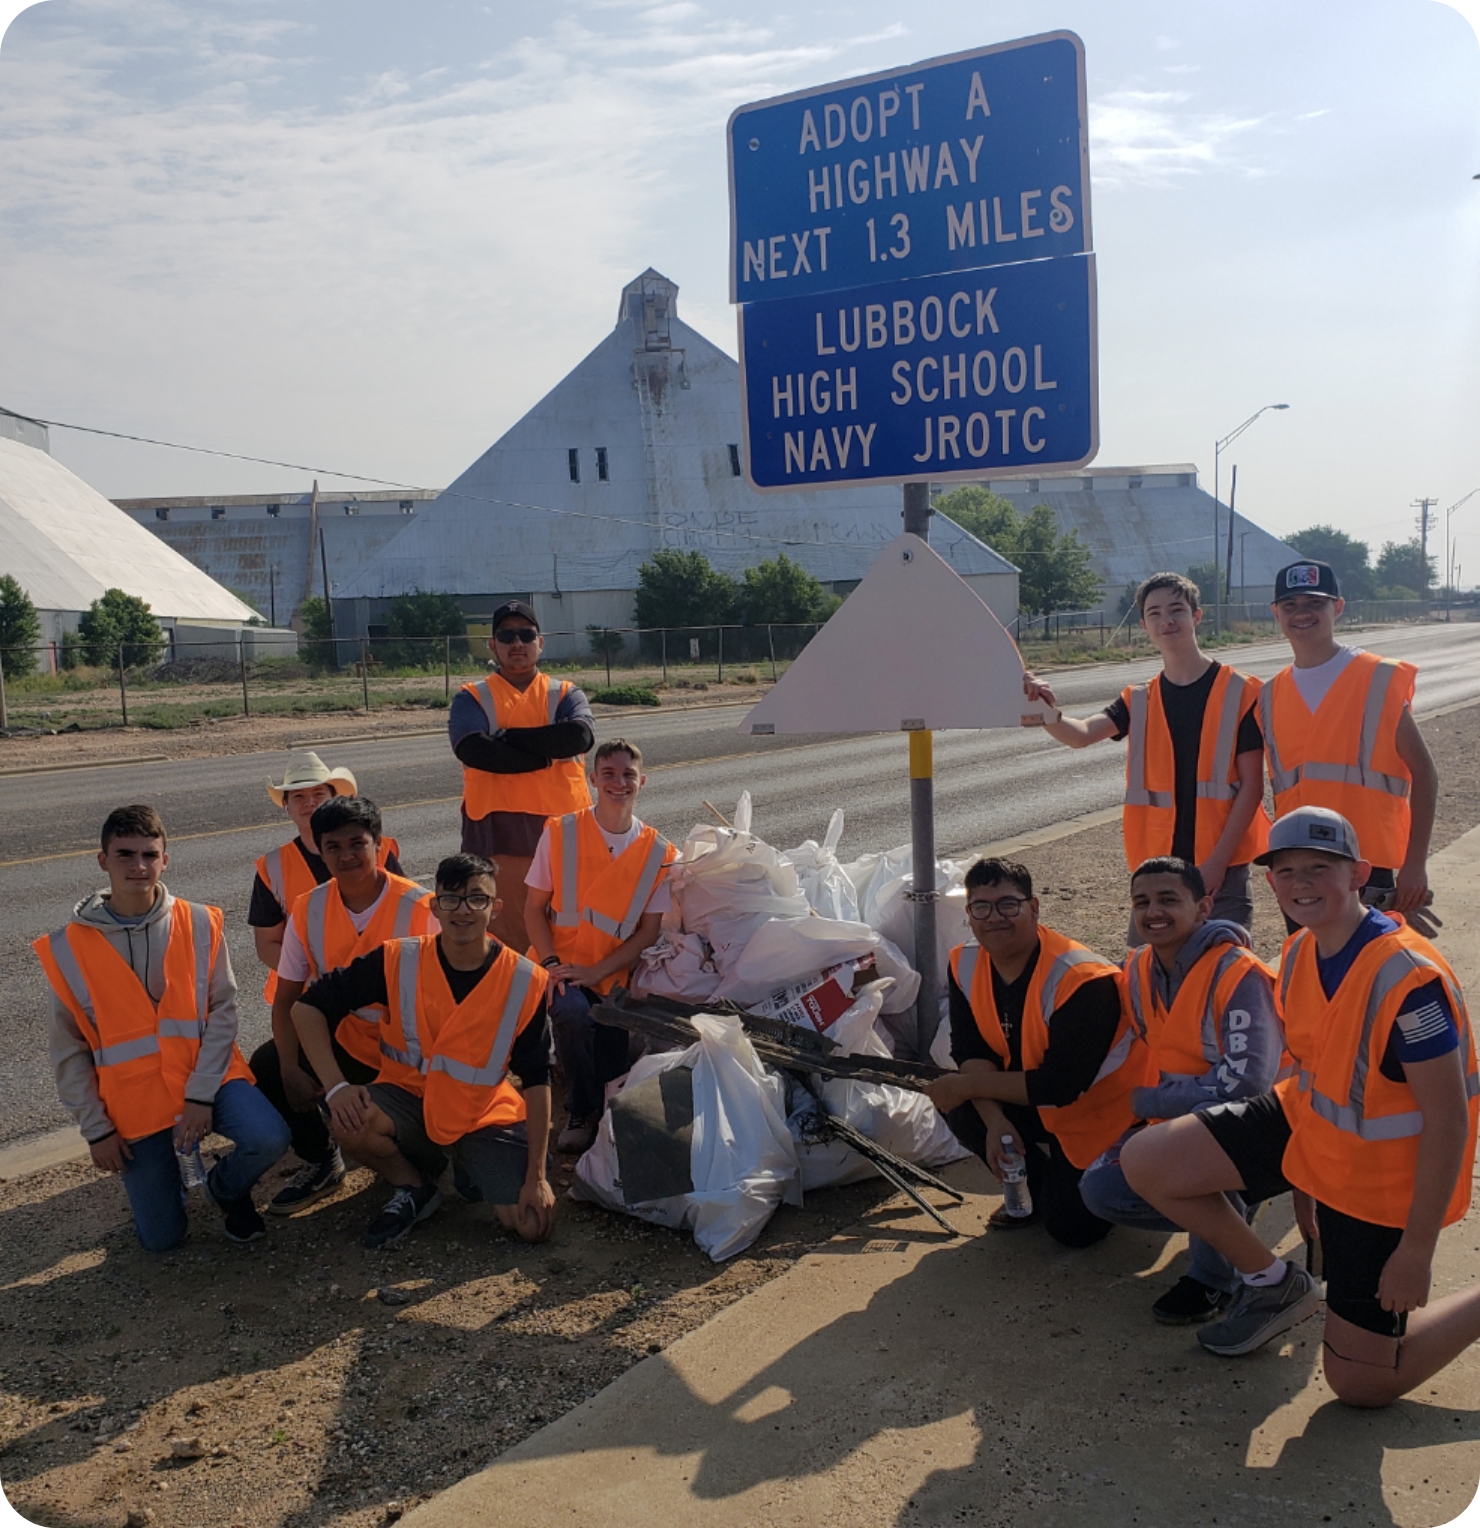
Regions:
<instances>
[{"instance_id":1,"label":"orange vest on boy in white t-shirt seated against trash bags","mask_svg":"<svg viewBox=\"0 0 1480 1528\"><path fill-rule=\"evenodd\" d=\"M545 833L554 872L550 894L554 952L567 964L594 966L637 932L648 900L663 880L664 868L678 859L678 850L657 828L645 825L614 856L590 807L551 817ZM626 976L626 970L612 972L596 984L596 990L611 992Z\"/></svg>"}]
</instances>

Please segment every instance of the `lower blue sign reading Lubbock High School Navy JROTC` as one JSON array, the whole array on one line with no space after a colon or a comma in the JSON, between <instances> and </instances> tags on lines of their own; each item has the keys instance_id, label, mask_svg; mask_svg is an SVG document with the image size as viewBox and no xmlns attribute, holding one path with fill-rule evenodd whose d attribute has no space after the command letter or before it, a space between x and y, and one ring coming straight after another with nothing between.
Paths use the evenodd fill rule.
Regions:
<instances>
[{"instance_id":1,"label":"lower blue sign reading Lubbock High School Navy JROTC","mask_svg":"<svg viewBox=\"0 0 1480 1528\"><path fill-rule=\"evenodd\" d=\"M753 487L1077 468L1097 448L1095 257L741 307Z\"/></svg>"}]
</instances>

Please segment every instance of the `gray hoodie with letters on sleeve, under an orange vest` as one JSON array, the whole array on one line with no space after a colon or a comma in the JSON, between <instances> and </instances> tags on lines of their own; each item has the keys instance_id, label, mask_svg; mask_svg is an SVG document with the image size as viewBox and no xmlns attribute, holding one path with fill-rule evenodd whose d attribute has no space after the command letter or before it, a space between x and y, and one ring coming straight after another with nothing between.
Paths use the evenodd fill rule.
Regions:
<instances>
[{"instance_id":1,"label":"gray hoodie with letters on sleeve, under an orange vest","mask_svg":"<svg viewBox=\"0 0 1480 1528\"><path fill-rule=\"evenodd\" d=\"M1237 923L1213 918L1193 932L1170 972L1152 957L1152 981L1168 1010L1193 966L1223 944L1248 949L1249 937ZM1274 1086L1284 1051L1284 1031L1274 1012L1274 983L1262 970L1251 970L1217 1018L1219 1059L1200 1077L1164 1071L1158 1086L1136 1088L1130 1102L1139 1118L1170 1120L1204 1103L1252 1099Z\"/></svg>"}]
</instances>

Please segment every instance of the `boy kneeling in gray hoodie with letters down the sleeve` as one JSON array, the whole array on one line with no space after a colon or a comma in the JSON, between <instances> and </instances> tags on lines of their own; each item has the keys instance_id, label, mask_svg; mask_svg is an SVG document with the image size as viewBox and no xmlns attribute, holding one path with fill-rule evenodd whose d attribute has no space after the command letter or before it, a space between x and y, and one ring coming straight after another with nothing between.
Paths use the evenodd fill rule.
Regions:
<instances>
[{"instance_id":1,"label":"boy kneeling in gray hoodie with letters down the sleeve","mask_svg":"<svg viewBox=\"0 0 1480 1528\"><path fill-rule=\"evenodd\" d=\"M1130 1096L1139 1120L1257 1097L1280 1070L1284 1036L1274 1012L1274 972L1249 949L1240 924L1211 911L1202 871L1187 860L1149 859L1130 877L1138 947L1126 960L1126 998L1158 1079ZM1080 1180L1084 1203L1116 1225L1178 1230L1127 1187L1123 1144L1091 1163ZM1243 1199L1234 1207L1246 1209ZM1168 1326L1213 1320L1239 1288L1234 1265L1200 1236L1191 1238L1188 1253L1187 1273L1152 1306Z\"/></svg>"}]
</instances>

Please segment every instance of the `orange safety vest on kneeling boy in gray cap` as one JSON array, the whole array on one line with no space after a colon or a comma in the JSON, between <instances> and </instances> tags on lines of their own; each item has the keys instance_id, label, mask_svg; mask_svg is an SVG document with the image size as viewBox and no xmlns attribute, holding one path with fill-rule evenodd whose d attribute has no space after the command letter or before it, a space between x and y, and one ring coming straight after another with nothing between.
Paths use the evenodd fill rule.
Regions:
<instances>
[{"instance_id":1,"label":"orange safety vest on kneeling boy in gray cap","mask_svg":"<svg viewBox=\"0 0 1480 1528\"><path fill-rule=\"evenodd\" d=\"M1278 1088L1291 1123L1284 1177L1343 1215L1398 1229L1408 1224L1423 1114L1407 1082L1382 1076L1382 1057L1404 998L1442 981L1460 1030L1469 1102L1465 1161L1443 1219L1453 1225L1469 1209L1480 1117L1475 1041L1459 978L1405 923L1361 950L1332 998L1321 987L1315 957L1307 929L1291 935L1275 989L1298 1068Z\"/></svg>"}]
</instances>

